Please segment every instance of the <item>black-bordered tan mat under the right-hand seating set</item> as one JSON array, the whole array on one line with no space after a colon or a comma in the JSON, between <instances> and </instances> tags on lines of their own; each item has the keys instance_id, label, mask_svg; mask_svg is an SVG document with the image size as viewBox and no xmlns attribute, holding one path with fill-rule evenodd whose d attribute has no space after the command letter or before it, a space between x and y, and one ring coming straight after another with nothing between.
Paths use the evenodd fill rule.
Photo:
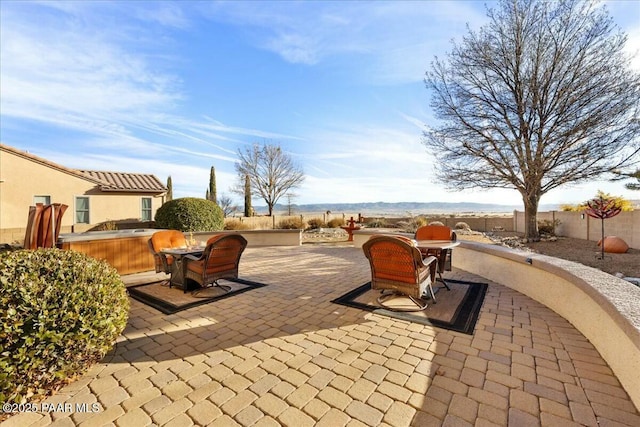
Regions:
<instances>
[{"instance_id":1,"label":"black-bordered tan mat under the right-hand seating set","mask_svg":"<svg viewBox=\"0 0 640 427\"><path fill-rule=\"evenodd\" d=\"M381 308L376 301L380 291L372 290L371 282L367 282L331 302L371 311L395 319L437 326L473 335L488 285L486 283L453 279L447 280L447 284L451 288L450 291L445 288L437 288L436 303L433 304L427 299L425 301L429 302L429 306L425 310L417 312L407 313ZM386 304L396 308L416 307L409 298L405 297L394 298L387 301Z\"/></svg>"}]
</instances>

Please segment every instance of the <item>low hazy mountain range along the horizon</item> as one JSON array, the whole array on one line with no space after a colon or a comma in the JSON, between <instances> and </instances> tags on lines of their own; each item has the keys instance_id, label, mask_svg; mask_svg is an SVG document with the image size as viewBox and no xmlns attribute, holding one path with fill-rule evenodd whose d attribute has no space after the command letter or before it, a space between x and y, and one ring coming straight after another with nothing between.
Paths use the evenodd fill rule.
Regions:
<instances>
[{"instance_id":1,"label":"low hazy mountain range along the horizon","mask_svg":"<svg viewBox=\"0 0 640 427\"><path fill-rule=\"evenodd\" d=\"M258 214L266 214L266 206L254 206ZM558 210L559 205L541 205L540 211ZM361 213L363 215L420 215L434 213L511 213L522 211L522 205L499 205L494 203L446 203L446 202L372 202L372 203L317 203L291 205L293 214L303 213ZM289 206L277 204L274 208L276 215L287 215Z\"/></svg>"}]
</instances>

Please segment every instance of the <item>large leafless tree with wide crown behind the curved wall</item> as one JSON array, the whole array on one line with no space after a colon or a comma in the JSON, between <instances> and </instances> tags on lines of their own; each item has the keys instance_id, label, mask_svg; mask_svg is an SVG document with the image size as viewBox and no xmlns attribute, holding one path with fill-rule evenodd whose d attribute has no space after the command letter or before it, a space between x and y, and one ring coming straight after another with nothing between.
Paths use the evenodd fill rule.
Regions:
<instances>
[{"instance_id":1,"label":"large leafless tree with wide crown behind the curved wall","mask_svg":"<svg viewBox=\"0 0 640 427\"><path fill-rule=\"evenodd\" d=\"M487 16L426 74L442 125L424 144L449 188L518 190L538 240L542 195L637 157L640 75L596 2L501 0Z\"/></svg>"}]
</instances>

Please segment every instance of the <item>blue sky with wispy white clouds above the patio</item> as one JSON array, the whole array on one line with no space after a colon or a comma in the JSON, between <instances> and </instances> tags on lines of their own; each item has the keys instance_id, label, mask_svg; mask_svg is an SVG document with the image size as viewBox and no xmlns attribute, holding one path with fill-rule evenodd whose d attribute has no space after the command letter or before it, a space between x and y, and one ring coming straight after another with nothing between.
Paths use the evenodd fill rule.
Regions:
<instances>
[{"instance_id":1,"label":"blue sky with wispy white clouds above the patio","mask_svg":"<svg viewBox=\"0 0 640 427\"><path fill-rule=\"evenodd\" d=\"M215 166L218 195L241 203L237 150L268 142L305 172L294 203L521 204L447 191L421 143L435 123L424 73L486 23L485 4L3 0L0 140L71 168L171 175L174 197L204 197ZM606 4L640 51L640 1ZM541 202L598 189L640 198L594 182Z\"/></svg>"}]
</instances>

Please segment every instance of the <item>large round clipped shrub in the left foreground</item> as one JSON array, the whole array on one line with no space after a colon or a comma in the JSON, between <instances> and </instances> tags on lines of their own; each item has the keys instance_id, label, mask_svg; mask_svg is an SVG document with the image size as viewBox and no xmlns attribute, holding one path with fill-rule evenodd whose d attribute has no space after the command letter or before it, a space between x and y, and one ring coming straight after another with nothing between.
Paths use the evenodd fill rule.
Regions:
<instances>
[{"instance_id":1,"label":"large round clipped shrub in the left foreground","mask_svg":"<svg viewBox=\"0 0 640 427\"><path fill-rule=\"evenodd\" d=\"M129 299L106 261L60 249L0 253L0 402L46 396L111 349Z\"/></svg>"}]
</instances>

